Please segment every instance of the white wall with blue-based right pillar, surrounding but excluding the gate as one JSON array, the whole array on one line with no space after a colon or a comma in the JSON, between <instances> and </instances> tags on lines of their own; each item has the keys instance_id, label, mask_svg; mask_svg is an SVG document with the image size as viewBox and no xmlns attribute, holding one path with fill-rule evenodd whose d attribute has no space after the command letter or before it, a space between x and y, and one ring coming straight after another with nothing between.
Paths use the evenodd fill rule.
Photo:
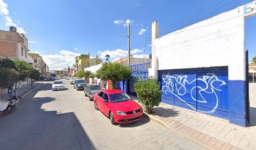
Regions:
<instances>
[{"instance_id":1,"label":"white wall with blue-based right pillar, surrounding but excluding the gate","mask_svg":"<svg viewBox=\"0 0 256 150\"><path fill-rule=\"evenodd\" d=\"M158 22L152 23L152 69L159 71L228 67L228 119L247 125L245 17L256 1L224 12L179 31L158 37Z\"/></svg>"}]
</instances>

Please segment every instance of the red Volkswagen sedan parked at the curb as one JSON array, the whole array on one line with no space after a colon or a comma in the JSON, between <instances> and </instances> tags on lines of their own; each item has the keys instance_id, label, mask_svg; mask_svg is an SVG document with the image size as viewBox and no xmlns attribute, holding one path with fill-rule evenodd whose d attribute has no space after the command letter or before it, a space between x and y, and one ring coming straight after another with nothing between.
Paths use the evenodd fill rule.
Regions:
<instances>
[{"instance_id":1,"label":"red Volkswagen sedan parked at the curb","mask_svg":"<svg viewBox=\"0 0 256 150\"><path fill-rule=\"evenodd\" d=\"M143 114L141 105L117 89L104 90L95 94L94 107L109 117L112 124L139 121Z\"/></svg>"}]
</instances>

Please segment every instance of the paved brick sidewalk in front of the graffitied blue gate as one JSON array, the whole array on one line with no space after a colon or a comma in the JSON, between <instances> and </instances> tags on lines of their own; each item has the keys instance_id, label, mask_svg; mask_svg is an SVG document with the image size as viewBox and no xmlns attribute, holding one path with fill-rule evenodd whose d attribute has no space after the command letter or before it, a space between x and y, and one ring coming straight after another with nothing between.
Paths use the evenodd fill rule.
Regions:
<instances>
[{"instance_id":1,"label":"paved brick sidewalk in front of the graffitied blue gate","mask_svg":"<svg viewBox=\"0 0 256 150\"><path fill-rule=\"evenodd\" d=\"M160 104L151 119L183 133L198 143L213 149L256 149L256 84L250 84L251 126L243 128L228 120L188 109Z\"/></svg>"}]
</instances>

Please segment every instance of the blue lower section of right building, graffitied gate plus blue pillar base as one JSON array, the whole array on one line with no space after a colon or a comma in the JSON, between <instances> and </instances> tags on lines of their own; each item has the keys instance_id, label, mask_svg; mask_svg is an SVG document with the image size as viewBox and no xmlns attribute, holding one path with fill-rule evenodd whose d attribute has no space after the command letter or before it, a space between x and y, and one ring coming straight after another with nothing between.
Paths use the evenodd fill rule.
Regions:
<instances>
[{"instance_id":1,"label":"blue lower section of right building, graffitied gate plus blue pillar base","mask_svg":"<svg viewBox=\"0 0 256 150\"><path fill-rule=\"evenodd\" d=\"M162 103L248 125L247 81L229 81L228 67L158 71Z\"/></svg>"}]
</instances>

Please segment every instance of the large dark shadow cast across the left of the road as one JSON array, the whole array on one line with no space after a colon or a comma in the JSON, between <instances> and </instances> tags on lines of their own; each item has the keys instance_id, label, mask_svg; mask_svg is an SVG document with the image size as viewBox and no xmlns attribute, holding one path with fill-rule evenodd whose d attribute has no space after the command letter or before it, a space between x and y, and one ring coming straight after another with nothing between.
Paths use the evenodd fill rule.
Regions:
<instances>
[{"instance_id":1,"label":"large dark shadow cast across the left of the road","mask_svg":"<svg viewBox=\"0 0 256 150\"><path fill-rule=\"evenodd\" d=\"M34 98L50 88L42 84L16 111L0 116L1 149L95 149L74 113L51 111L55 98Z\"/></svg>"}]
</instances>

